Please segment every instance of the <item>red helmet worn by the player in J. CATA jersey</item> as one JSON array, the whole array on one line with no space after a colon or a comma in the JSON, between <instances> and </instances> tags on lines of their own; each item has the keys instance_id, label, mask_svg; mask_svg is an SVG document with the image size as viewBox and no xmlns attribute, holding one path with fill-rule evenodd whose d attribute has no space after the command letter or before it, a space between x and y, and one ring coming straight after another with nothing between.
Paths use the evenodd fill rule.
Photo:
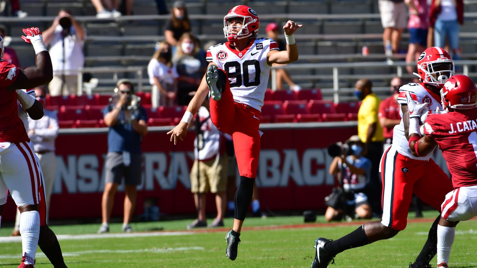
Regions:
<instances>
[{"instance_id":1,"label":"red helmet worn by the player in J. CATA jersey","mask_svg":"<svg viewBox=\"0 0 477 268\"><path fill-rule=\"evenodd\" d=\"M441 89L442 108L472 109L476 107L477 88L467 75L456 74Z\"/></svg>"}]
</instances>

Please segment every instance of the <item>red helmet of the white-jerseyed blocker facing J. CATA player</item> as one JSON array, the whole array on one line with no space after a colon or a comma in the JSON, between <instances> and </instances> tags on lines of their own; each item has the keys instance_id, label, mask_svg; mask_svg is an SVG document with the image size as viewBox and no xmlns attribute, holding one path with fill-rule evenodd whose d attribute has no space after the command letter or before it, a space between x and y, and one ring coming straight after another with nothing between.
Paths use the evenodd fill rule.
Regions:
<instances>
[{"instance_id":1,"label":"red helmet of the white-jerseyed blocker facing J. CATA player","mask_svg":"<svg viewBox=\"0 0 477 268\"><path fill-rule=\"evenodd\" d=\"M422 82L442 88L449 77L454 75L454 61L448 52L440 47L430 47L417 60L417 73Z\"/></svg>"}]
</instances>

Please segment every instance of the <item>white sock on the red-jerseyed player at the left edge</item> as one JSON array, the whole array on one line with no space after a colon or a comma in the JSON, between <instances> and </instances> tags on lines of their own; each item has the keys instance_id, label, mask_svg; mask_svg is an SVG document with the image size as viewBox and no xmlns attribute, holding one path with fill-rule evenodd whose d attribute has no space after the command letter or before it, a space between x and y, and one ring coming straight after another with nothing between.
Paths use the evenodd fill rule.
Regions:
<instances>
[{"instance_id":1,"label":"white sock on the red-jerseyed player at the left edge","mask_svg":"<svg viewBox=\"0 0 477 268\"><path fill-rule=\"evenodd\" d=\"M21 247L25 264L35 264L38 238L40 237L40 213L25 211L20 215Z\"/></svg>"}]
</instances>

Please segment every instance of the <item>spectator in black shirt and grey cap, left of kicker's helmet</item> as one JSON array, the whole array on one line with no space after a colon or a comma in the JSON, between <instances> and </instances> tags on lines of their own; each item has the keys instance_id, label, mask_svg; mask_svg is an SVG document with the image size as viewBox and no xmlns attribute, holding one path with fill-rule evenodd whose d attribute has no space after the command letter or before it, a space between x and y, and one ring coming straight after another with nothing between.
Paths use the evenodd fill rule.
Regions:
<instances>
[{"instance_id":1,"label":"spectator in black shirt and grey cap, left of kicker's helmet","mask_svg":"<svg viewBox=\"0 0 477 268\"><path fill-rule=\"evenodd\" d=\"M173 50L175 50L179 38L187 31L190 31L190 21L186 4L182 0L176 0L171 12L171 19L167 21L164 31L166 41L174 47Z\"/></svg>"}]
</instances>

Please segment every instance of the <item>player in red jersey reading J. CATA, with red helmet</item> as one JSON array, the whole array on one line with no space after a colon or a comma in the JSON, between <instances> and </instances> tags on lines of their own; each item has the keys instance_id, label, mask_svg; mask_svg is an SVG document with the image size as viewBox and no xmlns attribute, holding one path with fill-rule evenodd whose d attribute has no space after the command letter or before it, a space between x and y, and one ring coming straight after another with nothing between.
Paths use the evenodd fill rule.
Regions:
<instances>
[{"instance_id":1,"label":"player in red jersey reading J. CATA, with red helmet","mask_svg":"<svg viewBox=\"0 0 477 268\"><path fill-rule=\"evenodd\" d=\"M410 117L409 146L414 155L439 146L452 175L454 191L442 203L437 226L437 267L448 267L456 224L477 216L477 88L468 76L457 74L444 84L441 98L444 113L427 117L425 136L416 131L417 117Z\"/></svg>"}]
</instances>

